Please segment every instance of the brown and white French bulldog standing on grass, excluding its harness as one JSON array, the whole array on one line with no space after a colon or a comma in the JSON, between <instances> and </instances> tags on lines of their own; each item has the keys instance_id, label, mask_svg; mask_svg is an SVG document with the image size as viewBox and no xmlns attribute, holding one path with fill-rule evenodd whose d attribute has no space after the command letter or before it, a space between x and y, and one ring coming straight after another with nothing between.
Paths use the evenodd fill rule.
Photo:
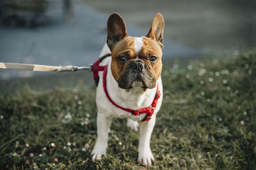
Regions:
<instances>
[{"instance_id":1,"label":"brown and white French bulldog standing on grass, excluding its harness","mask_svg":"<svg viewBox=\"0 0 256 170\"><path fill-rule=\"evenodd\" d=\"M102 72L97 87L97 141L92 150L92 159L101 159L108 148L108 132L112 119L127 118L127 126L135 131L140 129L138 146L138 162L144 166L152 164L154 157L150 150L150 138L153 131L156 114L163 100L163 85L161 81L162 48L164 20L160 13L154 17L152 27L147 36L127 36L125 22L118 13L113 13L108 19L108 41L100 56L111 52L111 57L104 59L100 66L108 65L106 89L109 97L123 108L138 110L152 104L156 96L157 85L161 96L157 102L154 114L148 122L141 122L145 114L138 116L114 106L104 93ZM110 50L109 50L110 49Z\"/></svg>"}]
</instances>

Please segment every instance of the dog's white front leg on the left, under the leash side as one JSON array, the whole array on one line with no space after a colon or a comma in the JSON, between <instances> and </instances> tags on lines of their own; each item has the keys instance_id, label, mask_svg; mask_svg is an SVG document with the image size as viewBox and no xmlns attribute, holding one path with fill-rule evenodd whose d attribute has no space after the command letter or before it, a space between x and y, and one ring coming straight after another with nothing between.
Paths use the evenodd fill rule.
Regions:
<instances>
[{"instance_id":1,"label":"dog's white front leg on the left, under the leash side","mask_svg":"<svg viewBox=\"0 0 256 170\"><path fill-rule=\"evenodd\" d=\"M108 148L108 132L112 119L107 118L103 113L97 114L97 141L92 150L92 160L101 159L102 155L106 155Z\"/></svg>"}]
</instances>

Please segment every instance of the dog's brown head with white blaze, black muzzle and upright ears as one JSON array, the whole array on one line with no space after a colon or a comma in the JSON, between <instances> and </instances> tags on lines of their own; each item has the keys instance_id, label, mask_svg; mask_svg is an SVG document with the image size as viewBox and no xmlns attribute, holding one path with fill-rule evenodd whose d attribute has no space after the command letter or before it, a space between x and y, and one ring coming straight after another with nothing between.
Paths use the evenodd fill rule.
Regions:
<instances>
[{"instance_id":1,"label":"dog's brown head with white blaze, black muzzle and upright ears","mask_svg":"<svg viewBox=\"0 0 256 170\"><path fill-rule=\"evenodd\" d=\"M118 13L108 18L108 46L111 50L111 72L122 89L156 87L162 71L164 19L155 16L147 36L127 36L125 22Z\"/></svg>"}]
</instances>

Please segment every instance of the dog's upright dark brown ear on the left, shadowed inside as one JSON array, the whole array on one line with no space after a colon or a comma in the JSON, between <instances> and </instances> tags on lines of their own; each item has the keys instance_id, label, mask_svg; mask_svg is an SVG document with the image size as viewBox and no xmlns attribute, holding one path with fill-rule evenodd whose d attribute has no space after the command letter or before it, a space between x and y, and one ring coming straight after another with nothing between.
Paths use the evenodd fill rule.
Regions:
<instances>
[{"instance_id":1,"label":"dog's upright dark brown ear on the left, shadowed inside","mask_svg":"<svg viewBox=\"0 0 256 170\"><path fill-rule=\"evenodd\" d=\"M127 31L123 18L118 13L112 13L108 18L107 44L110 50L120 39L127 36Z\"/></svg>"}]
</instances>

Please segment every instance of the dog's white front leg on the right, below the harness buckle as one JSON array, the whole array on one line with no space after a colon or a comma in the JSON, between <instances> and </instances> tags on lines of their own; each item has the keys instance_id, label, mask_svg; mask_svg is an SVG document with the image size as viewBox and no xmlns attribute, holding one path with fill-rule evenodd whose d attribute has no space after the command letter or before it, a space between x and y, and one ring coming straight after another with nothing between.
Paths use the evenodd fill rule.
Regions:
<instances>
[{"instance_id":1,"label":"dog's white front leg on the right, below the harness buckle","mask_svg":"<svg viewBox=\"0 0 256 170\"><path fill-rule=\"evenodd\" d=\"M151 133L156 123L156 114L148 122L140 122L139 157L138 162L143 166L150 166L154 156L150 149Z\"/></svg>"}]
</instances>

